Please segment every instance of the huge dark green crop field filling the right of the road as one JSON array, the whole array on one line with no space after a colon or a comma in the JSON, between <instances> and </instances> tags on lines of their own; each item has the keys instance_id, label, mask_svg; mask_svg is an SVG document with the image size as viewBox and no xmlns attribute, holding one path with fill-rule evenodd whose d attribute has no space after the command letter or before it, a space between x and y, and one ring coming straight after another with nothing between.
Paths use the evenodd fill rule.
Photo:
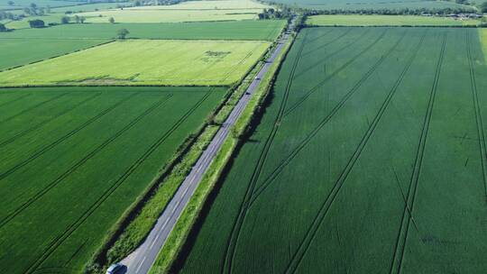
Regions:
<instances>
[{"instance_id":1,"label":"huge dark green crop field filling the right of the road","mask_svg":"<svg viewBox=\"0 0 487 274\"><path fill-rule=\"evenodd\" d=\"M181 273L482 273L476 29L308 28Z\"/></svg>"}]
</instances>

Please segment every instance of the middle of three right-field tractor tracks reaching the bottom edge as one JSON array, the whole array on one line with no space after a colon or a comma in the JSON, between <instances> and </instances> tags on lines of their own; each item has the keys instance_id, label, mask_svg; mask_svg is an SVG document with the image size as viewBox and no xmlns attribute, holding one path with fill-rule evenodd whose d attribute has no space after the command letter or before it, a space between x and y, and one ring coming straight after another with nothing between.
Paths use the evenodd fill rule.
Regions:
<instances>
[{"instance_id":1,"label":"middle of three right-field tractor tracks reaching the bottom edge","mask_svg":"<svg viewBox=\"0 0 487 274\"><path fill-rule=\"evenodd\" d=\"M348 178L348 175L350 174L352 169L354 169L354 164L360 158L363 148L370 140L372 133L375 131L377 125L381 121L383 114L385 113L388 106L390 105L392 97L396 94L398 88L400 87L400 84L402 83L402 80L404 79L405 75L408 73L409 68L411 67L414 59L416 59L418 55L418 50L421 48L425 37L426 37L426 32L423 33L423 36L418 42L418 45L414 48L412 54L410 55L406 63L406 66L400 72L399 78L391 87L391 90L389 91L386 98L382 102L379 112L375 115L374 119L372 120L372 123L370 123L367 132L365 132L361 142L358 144L357 148L355 149L354 154L352 155L350 160L348 160L345 169L342 170L339 178L336 179L335 186L332 188L328 196L326 196L326 199L322 203L320 209L318 210L316 217L311 222L311 225L309 226L303 241L299 243L298 250L294 253L291 260L289 261L288 267L285 271L286 273L295 273L296 270L299 268L299 264L303 260L309 247L311 246L311 243L315 239L319 227L321 226L321 224L323 224L323 221L327 213L329 212L329 209L335 202L336 196L338 196L340 189L344 186L346 178Z\"/></svg>"}]
</instances>

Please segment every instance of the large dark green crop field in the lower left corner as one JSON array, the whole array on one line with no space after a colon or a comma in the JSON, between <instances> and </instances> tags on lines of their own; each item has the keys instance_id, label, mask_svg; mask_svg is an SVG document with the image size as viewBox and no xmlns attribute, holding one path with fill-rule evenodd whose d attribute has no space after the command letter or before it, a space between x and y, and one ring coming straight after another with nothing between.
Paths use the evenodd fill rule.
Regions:
<instances>
[{"instance_id":1,"label":"large dark green crop field in the lower left corner","mask_svg":"<svg viewBox=\"0 0 487 274\"><path fill-rule=\"evenodd\" d=\"M81 272L224 95L219 87L1 89L0 272Z\"/></svg>"}]
</instances>

